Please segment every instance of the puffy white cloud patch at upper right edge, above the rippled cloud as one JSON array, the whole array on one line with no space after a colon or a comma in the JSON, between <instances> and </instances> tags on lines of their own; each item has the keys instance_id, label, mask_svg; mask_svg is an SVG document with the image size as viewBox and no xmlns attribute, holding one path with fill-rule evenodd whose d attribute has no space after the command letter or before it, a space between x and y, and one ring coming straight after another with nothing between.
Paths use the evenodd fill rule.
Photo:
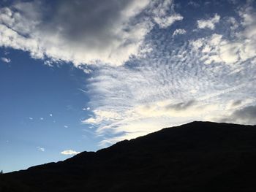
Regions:
<instances>
[{"instance_id":1,"label":"puffy white cloud patch at upper right edge, above the rippled cloud","mask_svg":"<svg viewBox=\"0 0 256 192\"><path fill-rule=\"evenodd\" d=\"M236 31L231 39L222 34L212 34L211 37L195 39L190 42L195 52L203 53L201 60L205 64L224 63L238 64L256 56L256 14L247 7L239 11L241 16L240 31ZM230 23L230 18L227 20ZM231 19L230 31L238 28L236 20Z\"/></svg>"}]
</instances>

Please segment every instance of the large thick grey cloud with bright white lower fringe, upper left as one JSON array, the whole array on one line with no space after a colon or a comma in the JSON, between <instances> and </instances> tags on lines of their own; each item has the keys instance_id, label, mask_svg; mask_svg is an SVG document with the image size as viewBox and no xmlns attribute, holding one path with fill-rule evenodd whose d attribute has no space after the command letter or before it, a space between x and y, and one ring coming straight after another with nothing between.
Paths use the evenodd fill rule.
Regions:
<instances>
[{"instance_id":1,"label":"large thick grey cloud with bright white lower fringe, upper left","mask_svg":"<svg viewBox=\"0 0 256 192\"><path fill-rule=\"evenodd\" d=\"M64 0L50 6L46 1L18 1L0 9L0 45L75 66L118 66L140 55L140 45L155 23L166 28L183 18L174 10L167 12L172 4L170 0Z\"/></svg>"}]
</instances>

